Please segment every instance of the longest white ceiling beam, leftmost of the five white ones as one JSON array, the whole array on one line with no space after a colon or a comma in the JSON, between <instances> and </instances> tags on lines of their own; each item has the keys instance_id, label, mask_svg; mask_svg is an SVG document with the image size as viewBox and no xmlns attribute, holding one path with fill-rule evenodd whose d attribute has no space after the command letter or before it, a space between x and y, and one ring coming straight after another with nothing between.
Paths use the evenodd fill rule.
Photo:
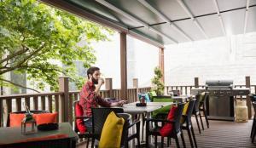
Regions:
<instances>
[{"instance_id":1,"label":"longest white ceiling beam, leftmost of the five white ones","mask_svg":"<svg viewBox=\"0 0 256 148\"><path fill-rule=\"evenodd\" d=\"M122 9L119 9L117 7L115 7L113 4L111 3L108 3L107 1L105 0L96 0L97 3L101 3L102 5L104 5L105 7L107 7L108 9L112 9L113 11L119 13L119 14L122 14L123 16L125 16L126 18L130 19L130 20L133 20L137 23L139 23L140 25L148 28L149 31L153 31L154 33L160 35L161 37L166 37L168 38L169 40L171 40L173 43L177 43L177 41L175 39L173 39L172 37L169 37L167 36L166 34L160 32L160 31L157 31L155 30L153 27L149 26L147 23L143 22L143 20L139 20L137 19L136 17L132 16L131 14L128 14L126 13L124 10Z\"/></svg>"}]
</instances>

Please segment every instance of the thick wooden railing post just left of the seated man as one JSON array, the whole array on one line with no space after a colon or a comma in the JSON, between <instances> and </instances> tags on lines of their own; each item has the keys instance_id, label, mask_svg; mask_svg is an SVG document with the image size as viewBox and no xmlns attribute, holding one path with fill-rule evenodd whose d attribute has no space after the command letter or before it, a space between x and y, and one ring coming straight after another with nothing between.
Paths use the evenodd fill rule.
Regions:
<instances>
[{"instance_id":1,"label":"thick wooden railing post just left of the seated man","mask_svg":"<svg viewBox=\"0 0 256 148\"><path fill-rule=\"evenodd\" d=\"M68 122L68 119L71 121L72 119L68 118L71 116L68 112L72 110L68 107L68 77L59 77L59 91L64 93L59 98L59 121Z\"/></svg>"}]
</instances>

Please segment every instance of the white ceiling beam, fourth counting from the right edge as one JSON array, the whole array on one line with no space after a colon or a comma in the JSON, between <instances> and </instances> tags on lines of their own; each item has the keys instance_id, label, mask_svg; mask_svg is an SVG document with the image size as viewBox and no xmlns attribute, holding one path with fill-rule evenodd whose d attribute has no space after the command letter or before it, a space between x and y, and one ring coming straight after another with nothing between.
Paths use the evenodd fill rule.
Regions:
<instances>
[{"instance_id":1,"label":"white ceiling beam, fourth counting from the right edge","mask_svg":"<svg viewBox=\"0 0 256 148\"><path fill-rule=\"evenodd\" d=\"M172 28L176 31L178 31L180 34L183 35L183 37L186 37L189 41L193 41L191 37L189 37L183 30L181 30L178 26L176 26L174 23L172 23L172 20L169 20L164 14L161 14L159 10L154 9L153 6L151 6L146 0L137 0L139 3L142 3L143 6L145 6L147 9L151 10L154 14L158 15L161 20L166 21Z\"/></svg>"}]
</instances>

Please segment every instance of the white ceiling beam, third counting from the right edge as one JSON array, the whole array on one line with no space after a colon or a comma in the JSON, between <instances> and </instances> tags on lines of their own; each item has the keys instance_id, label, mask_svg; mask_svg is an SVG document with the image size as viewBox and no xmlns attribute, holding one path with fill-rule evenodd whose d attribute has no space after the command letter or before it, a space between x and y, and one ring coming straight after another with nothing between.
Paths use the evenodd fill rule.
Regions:
<instances>
[{"instance_id":1,"label":"white ceiling beam, third counting from the right edge","mask_svg":"<svg viewBox=\"0 0 256 148\"><path fill-rule=\"evenodd\" d=\"M200 23L198 22L198 20L195 19L194 15L191 13L190 9L186 6L186 4L183 2L183 0L176 0L177 3L183 8L183 10L189 15L190 19L193 20L195 26L198 27L198 29L202 32L202 34L206 37L209 38L207 36L206 31L202 28L202 26L200 25Z\"/></svg>"}]
</instances>

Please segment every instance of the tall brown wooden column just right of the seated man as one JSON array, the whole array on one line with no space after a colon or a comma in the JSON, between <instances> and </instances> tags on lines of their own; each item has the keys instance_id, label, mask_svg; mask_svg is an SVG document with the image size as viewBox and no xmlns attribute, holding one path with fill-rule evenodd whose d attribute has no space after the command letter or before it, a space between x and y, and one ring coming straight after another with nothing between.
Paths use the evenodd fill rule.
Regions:
<instances>
[{"instance_id":1,"label":"tall brown wooden column just right of the seated man","mask_svg":"<svg viewBox=\"0 0 256 148\"><path fill-rule=\"evenodd\" d=\"M127 48L126 33L120 32L121 100L127 99Z\"/></svg>"}]
</instances>

